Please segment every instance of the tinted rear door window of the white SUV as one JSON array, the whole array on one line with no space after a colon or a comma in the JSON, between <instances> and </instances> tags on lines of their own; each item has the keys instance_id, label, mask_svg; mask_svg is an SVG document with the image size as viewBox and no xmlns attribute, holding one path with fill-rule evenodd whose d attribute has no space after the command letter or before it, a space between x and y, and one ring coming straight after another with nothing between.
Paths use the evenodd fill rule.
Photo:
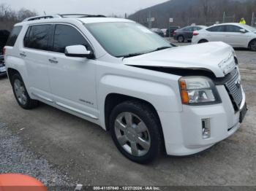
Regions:
<instances>
[{"instance_id":1,"label":"tinted rear door window of the white SUV","mask_svg":"<svg viewBox=\"0 0 256 191\"><path fill-rule=\"evenodd\" d=\"M24 38L24 47L49 50L51 25L30 26Z\"/></svg>"}]
</instances>

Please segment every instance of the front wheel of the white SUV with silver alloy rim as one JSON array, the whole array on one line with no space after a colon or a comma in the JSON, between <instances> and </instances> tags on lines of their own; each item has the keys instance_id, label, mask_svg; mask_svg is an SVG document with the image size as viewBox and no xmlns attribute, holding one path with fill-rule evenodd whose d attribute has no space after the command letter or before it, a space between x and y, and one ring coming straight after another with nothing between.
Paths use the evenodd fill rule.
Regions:
<instances>
[{"instance_id":1,"label":"front wheel of the white SUV with silver alloy rim","mask_svg":"<svg viewBox=\"0 0 256 191\"><path fill-rule=\"evenodd\" d=\"M161 151L160 122L153 109L126 101L110 114L110 133L118 150L136 163L149 163Z\"/></svg>"}]
</instances>

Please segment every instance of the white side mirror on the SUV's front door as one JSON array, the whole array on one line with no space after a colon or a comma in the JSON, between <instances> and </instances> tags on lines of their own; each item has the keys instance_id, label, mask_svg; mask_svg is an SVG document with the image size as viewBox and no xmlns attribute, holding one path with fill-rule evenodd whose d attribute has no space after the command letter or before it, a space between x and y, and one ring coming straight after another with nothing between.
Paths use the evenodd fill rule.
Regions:
<instances>
[{"instance_id":1,"label":"white side mirror on the SUV's front door","mask_svg":"<svg viewBox=\"0 0 256 191\"><path fill-rule=\"evenodd\" d=\"M94 58L93 53L87 50L83 45L73 45L66 47L65 55L69 57Z\"/></svg>"}]
</instances>

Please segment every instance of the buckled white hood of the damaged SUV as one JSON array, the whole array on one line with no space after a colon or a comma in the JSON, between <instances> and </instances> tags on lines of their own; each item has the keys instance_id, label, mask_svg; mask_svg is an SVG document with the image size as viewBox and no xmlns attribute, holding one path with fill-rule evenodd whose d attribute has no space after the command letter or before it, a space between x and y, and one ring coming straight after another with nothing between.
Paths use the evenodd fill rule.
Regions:
<instances>
[{"instance_id":1,"label":"buckled white hood of the damaged SUV","mask_svg":"<svg viewBox=\"0 0 256 191\"><path fill-rule=\"evenodd\" d=\"M225 77L236 67L234 56L234 50L230 45L223 42L208 42L184 47L172 47L132 58L124 58L124 64L129 66L210 70L216 77Z\"/></svg>"}]
</instances>

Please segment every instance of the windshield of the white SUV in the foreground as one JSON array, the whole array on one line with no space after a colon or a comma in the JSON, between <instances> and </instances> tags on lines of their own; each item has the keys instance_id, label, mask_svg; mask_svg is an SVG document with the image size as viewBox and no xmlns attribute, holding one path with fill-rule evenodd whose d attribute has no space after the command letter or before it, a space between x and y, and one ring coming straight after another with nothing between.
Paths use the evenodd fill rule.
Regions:
<instances>
[{"instance_id":1,"label":"windshield of the white SUV in the foreground","mask_svg":"<svg viewBox=\"0 0 256 191\"><path fill-rule=\"evenodd\" d=\"M129 57L172 47L158 34L138 23L88 23L91 34L115 57Z\"/></svg>"}]
</instances>

